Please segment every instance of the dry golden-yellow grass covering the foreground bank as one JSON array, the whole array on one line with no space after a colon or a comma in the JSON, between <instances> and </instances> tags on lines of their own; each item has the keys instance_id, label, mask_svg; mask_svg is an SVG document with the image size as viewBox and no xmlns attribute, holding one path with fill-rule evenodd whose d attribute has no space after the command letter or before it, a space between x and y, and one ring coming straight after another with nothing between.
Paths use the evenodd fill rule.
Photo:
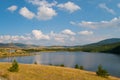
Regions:
<instances>
[{"instance_id":1,"label":"dry golden-yellow grass covering the foreground bank","mask_svg":"<svg viewBox=\"0 0 120 80\"><path fill-rule=\"evenodd\" d=\"M120 80L120 78L102 78L94 72L44 66L35 64L19 64L19 72L8 72L11 63L0 63L0 75L7 76L9 80Z\"/></svg>"}]
</instances>

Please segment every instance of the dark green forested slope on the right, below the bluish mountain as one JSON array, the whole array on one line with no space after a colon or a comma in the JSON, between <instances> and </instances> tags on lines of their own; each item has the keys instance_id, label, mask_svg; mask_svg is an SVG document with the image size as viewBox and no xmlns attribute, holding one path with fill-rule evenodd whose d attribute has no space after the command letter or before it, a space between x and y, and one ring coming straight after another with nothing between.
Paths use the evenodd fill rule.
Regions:
<instances>
[{"instance_id":1,"label":"dark green forested slope on the right, below the bluish mountain","mask_svg":"<svg viewBox=\"0 0 120 80\"><path fill-rule=\"evenodd\" d=\"M106 52L120 54L120 42L104 45L83 46L81 50L85 52Z\"/></svg>"}]
</instances>

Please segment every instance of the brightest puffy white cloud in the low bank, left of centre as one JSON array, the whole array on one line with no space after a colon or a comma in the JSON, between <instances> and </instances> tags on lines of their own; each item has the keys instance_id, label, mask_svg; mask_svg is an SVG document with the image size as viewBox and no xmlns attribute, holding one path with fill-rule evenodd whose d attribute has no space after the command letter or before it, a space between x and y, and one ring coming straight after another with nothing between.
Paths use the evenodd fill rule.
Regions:
<instances>
[{"instance_id":1,"label":"brightest puffy white cloud in the low bank, left of centre","mask_svg":"<svg viewBox=\"0 0 120 80\"><path fill-rule=\"evenodd\" d=\"M37 40L40 40L40 39L49 40L50 39L48 35L44 35L40 30L33 30L32 34Z\"/></svg>"}]
</instances>

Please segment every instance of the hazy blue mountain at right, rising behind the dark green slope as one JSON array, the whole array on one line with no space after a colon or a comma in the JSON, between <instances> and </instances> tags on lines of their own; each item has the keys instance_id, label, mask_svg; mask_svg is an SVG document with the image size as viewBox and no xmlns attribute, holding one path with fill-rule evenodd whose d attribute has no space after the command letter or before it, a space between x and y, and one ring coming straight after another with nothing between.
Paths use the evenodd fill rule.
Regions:
<instances>
[{"instance_id":1,"label":"hazy blue mountain at right, rising behind the dark green slope","mask_svg":"<svg viewBox=\"0 0 120 80\"><path fill-rule=\"evenodd\" d=\"M120 42L120 38L110 38L110 39L105 39L97 43L92 43L84 46L101 46L101 45L113 44L118 42Z\"/></svg>"}]
</instances>

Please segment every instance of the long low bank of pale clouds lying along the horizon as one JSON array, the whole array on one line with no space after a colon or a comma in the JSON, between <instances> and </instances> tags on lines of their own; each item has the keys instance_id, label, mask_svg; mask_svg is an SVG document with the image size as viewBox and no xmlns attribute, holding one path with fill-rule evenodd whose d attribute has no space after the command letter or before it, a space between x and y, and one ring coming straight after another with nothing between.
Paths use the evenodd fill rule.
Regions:
<instances>
[{"instance_id":1,"label":"long low bank of pale clouds lying along the horizon","mask_svg":"<svg viewBox=\"0 0 120 80\"><path fill-rule=\"evenodd\" d=\"M66 30L66 29L65 29ZM63 31L65 31L63 30ZM25 43L25 44L36 44L36 45L82 45L90 42L96 42L103 39L111 38L111 36L92 35L92 31L80 31L78 34L64 34L60 32L51 31L48 34L43 33L41 30L32 30L31 33L23 35L0 35L1 43ZM71 31L71 30L70 30ZM67 31L65 31L67 32ZM72 31L71 31L72 32ZM68 32L69 33L69 30ZM89 36L86 36L89 35ZM113 36L112 36L113 37Z\"/></svg>"}]
</instances>

